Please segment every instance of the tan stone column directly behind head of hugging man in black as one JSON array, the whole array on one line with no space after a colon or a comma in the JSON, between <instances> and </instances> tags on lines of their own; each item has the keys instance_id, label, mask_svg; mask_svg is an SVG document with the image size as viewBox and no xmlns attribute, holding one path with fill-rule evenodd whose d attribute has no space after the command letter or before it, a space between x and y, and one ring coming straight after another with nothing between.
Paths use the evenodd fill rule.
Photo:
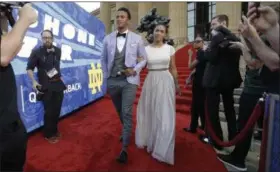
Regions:
<instances>
[{"instance_id":1,"label":"tan stone column directly behind head of hugging man in black","mask_svg":"<svg viewBox=\"0 0 280 172\"><path fill-rule=\"evenodd\" d=\"M237 33L238 25L241 20L241 2L217 2L216 14L226 14L229 18L229 29Z\"/></svg>"}]
</instances>

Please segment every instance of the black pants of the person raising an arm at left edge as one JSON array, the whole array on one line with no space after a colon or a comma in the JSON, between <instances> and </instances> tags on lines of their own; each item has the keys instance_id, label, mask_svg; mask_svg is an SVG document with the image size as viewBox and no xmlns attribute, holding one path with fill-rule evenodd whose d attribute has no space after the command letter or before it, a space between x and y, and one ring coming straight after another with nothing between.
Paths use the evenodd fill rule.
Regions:
<instances>
[{"instance_id":1,"label":"black pants of the person raising an arm at left edge","mask_svg":"<svg viewBox=\"0 0 280 172\"><path fill-rule=\"evenodd\" d=\"M14 127L12 127L14 128ZM26 156L27 133L23 124L7 132L0 139L0 171L23 171Z\"/></svg>"}]
</instances>

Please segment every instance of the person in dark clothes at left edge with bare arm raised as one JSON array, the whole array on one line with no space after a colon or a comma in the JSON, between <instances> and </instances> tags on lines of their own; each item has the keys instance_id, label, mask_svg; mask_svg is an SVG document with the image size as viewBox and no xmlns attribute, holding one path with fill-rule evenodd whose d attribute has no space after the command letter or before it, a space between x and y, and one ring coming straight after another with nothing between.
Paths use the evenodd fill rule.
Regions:
<instances>
[{"instance_id":1,"label":"person in dark clothes at left edge with bare arm raised","mask_svg":"<svg viewBox=\"0 0 280 172\"><path fill-rule=\"evenodd\" d=\"M2 16L3 17L3 16ZM37 14L30 4L19 10L19 19L11 32L2 37L0 66L0 171L23 171L27 135L17 108L15 74L10 62L21 48L28 27Z\"/></svg>"}]
</instances>

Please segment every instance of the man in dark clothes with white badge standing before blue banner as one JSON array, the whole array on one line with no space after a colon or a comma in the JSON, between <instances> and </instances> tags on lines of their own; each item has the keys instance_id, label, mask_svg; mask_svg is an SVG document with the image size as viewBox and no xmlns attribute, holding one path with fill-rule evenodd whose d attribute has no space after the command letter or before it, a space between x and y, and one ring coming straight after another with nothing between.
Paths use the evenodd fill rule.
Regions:
<instances>
[{"instance_id":1,"label":"man in dark clothes with white badge standing before blue banner","mask_svg":"<svg viewBox=\"0 0 280 172\"><path fill-rule=\"evenodd\" d=\"M61 49L53 45L53 33L44 30L41 33L43 45L32 51L27 64L27 73L37 92L37 100L44 105L44 137L49 143L58 142L61 134L57 125L62 101L66 89L61 80L60 58ZM34 68L38 69L38 80L34 78Z\"/></svg>"}]
</instances>

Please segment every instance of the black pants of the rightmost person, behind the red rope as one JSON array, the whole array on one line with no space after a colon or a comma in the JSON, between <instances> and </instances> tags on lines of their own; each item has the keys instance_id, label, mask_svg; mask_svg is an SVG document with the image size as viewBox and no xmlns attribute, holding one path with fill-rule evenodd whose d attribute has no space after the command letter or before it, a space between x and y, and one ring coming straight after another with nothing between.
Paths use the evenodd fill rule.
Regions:
<instances>
[{"instance_id":1,"label":"black pants of the rightmost person, behind the red rope","mask_svg":"<svg viewBox=\"0 0 280 172\"><path fill-rule=\"evenodd\" d=\"M239 100L239 114L238 114L238 120L237 120L237 128L238 131L241 131L245 125L247 124L259 98L262 95L252 95L252 94L246 94L242 93L240 100ZM253 135L253 128L248 131L247 137L237 144L235 146L235 149L232 152L232 156L237 162L244 163L246 156L249 152L251 141L252 141L252 135Z\"/></svg>"}]
</instances>

